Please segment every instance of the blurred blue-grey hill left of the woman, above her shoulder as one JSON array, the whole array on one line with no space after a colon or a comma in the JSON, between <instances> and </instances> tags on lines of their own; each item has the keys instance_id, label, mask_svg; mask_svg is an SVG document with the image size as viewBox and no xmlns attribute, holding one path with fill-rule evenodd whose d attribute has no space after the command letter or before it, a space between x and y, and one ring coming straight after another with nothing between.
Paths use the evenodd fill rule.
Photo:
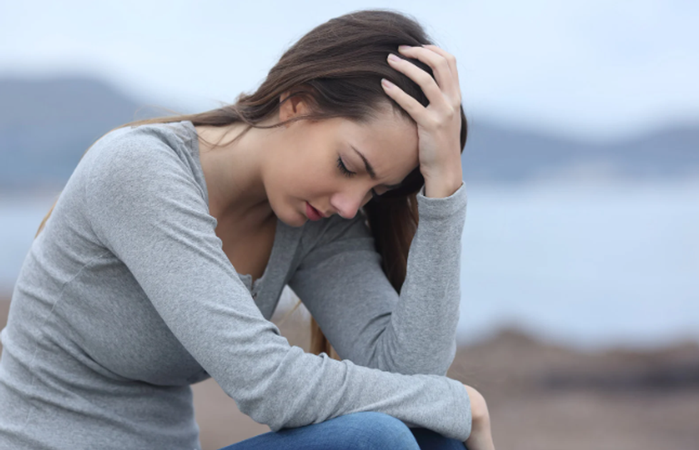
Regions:
<instances>
[{"instance_id":1,"label":"blurred blue-grey hill left of the woman, above her shoulder","mask_svg":"<svg viewBox=\"0 0 699 450\"><path fill-rule=\"evenodd\" d=\"M0 78L0 190L62 188L101 135L158 115L145 107L93 78Z\"/></svg>"}]
</instances>

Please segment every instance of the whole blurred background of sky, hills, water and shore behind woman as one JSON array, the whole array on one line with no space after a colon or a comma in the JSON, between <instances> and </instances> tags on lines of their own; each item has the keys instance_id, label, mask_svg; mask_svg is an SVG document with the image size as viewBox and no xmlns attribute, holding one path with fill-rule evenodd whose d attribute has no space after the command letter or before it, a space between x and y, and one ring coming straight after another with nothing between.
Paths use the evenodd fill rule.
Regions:
<instances>
[{"instance_id":1,"label":"whole blurred background of sky, hills, water and shore behind woman","mask_svg":"<svg viewBox=\"0 0 699 450\"><path fill-rule=\"evenodd\" d=\"M499 449L699 448L699 3L0 4L0 328L83 152L254 91L314 26L394 9L456 56L469 119L459 354ZM307 312L273 321L307 348ZM269 431L213 380L204 449ZM1 406L0 406L1 407Z\"/></svg>"}]
</instances>

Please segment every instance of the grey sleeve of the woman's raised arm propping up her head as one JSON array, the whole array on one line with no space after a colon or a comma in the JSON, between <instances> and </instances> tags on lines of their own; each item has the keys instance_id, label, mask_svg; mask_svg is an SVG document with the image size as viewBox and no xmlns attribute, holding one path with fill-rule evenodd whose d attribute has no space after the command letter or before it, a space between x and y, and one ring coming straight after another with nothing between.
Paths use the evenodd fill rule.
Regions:
<instances>
[{"instance_id":1,"label":"grey sleeve of the woman's raised arm propping up her head","mask_svg":"<svg viewBox=\"0 0 699 450\"><path fill-rule=\"evenodd\" d=\"M290 287L340 357L388 372L444 375L456 354L466 188L447 198L421 192L417 203L400 295L359 214L327 221Z\"/></svg>"}]
</instances>

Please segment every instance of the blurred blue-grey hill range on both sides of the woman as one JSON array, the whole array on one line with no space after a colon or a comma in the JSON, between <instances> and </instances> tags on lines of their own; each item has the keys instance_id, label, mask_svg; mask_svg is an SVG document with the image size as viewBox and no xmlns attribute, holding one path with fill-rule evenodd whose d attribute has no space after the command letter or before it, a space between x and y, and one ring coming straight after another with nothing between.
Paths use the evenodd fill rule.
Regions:
<instances>
[{"instance_id":1,"label":"blurred blue-grey hill range on both sides of the woman","mask_svg":"<svg viewBox=\"0 0 699 450\"><path fill-rule=\"evenodd\" d=\"M163 114L93 78L0 78L0 190L60 189L101 135ZM699 175L699 124L595 144L498 126L469 124L469 181L522 183L602 174L625 178Z\"/></svg>"}]
</instances>

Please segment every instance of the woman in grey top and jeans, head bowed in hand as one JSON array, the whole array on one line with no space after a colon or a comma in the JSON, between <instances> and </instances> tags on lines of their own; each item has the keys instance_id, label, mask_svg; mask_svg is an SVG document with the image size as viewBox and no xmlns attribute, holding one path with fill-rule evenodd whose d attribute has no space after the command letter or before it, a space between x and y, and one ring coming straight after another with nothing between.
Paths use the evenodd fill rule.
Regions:
<instances>
[{"instance_id":1,"label":"woman in grey top and jeans, head bowed in hand","mask_svg":"<svg viewBox=\"0 0 699 450\"><path fill-rule=\"evenodd\" d=\"M492 449L483 397L444 376L466 121L422 44L347 14L235 105L98 140L16 283L0 448L198 449L190 384L213 377L272 429L228 449ZM269 322L287 283L344 359Z\"/></svg>"}]
</instances>

